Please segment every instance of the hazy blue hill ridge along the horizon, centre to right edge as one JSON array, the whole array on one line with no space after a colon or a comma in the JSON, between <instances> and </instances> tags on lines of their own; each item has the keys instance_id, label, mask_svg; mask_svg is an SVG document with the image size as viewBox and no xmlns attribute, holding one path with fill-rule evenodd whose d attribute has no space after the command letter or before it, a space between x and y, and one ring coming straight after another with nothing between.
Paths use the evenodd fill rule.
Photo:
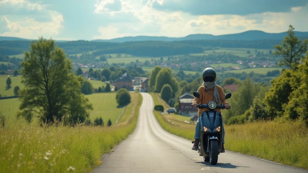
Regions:
<instances>
[{"instance_id":1,"label":"hazy blue hill ridge along the horizon, centre to right edge","mask_svg":"<svg viewBox=\"0 0 308 173\"><path fill-rule=\"evenodd\" d=\"M186 37L155 37L155 36L136 36L122 37L110 40L92 40L95 42L135 42L135 41L184 41L184 40L282 40L286 35L282 33L266 33L260 30L249 30L238 34L212 35L212 34L191 34ZM308 32L295 31L299 38L307 38Z\"/></svg>"}]
</instances>

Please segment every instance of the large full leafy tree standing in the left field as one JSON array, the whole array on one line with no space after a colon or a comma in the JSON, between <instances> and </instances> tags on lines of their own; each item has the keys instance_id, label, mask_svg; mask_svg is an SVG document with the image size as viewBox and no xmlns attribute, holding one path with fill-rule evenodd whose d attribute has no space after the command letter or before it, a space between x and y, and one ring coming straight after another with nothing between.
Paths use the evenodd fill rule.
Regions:
<instances>
[{"instance_id":1,"label":"large full leafy tree standing in the left field","mask_svg":"<svg viewBox=\"0 0 308 173\"><path fill-rule=\"evenodd\" d=\"M34 113L46 111L41 119L50 122L54 117L84 121L89 116L87 110L93 108L81 93L83 78L70 73L71 61L53 40L31 42L21 65L25 88L19 91L19 115L30 121Z\"/></svg>"}]
</instances>

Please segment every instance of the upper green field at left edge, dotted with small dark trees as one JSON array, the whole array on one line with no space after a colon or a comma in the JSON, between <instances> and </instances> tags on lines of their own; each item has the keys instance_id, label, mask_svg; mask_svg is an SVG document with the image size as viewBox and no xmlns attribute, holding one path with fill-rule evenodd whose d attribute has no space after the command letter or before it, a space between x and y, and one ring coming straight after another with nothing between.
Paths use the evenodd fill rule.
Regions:
<instances>
[{"instance_id":1,"label":"upper green field at left edge, dotted with small dark trees","mask_svg":"<svg viewBox=\"0 0 308 173\"><path fill-rule=\"evenodd\" d=\"M6 79L11 78L12 84L10 88L6 88ZM0 94L1 97L4 96L12 96L14 95L14 87L19 86L20 89L24 88L24 85L21 83L21 75L18 76L7 76L7 75L0 75Z\"/></svg>"}]
</instances>

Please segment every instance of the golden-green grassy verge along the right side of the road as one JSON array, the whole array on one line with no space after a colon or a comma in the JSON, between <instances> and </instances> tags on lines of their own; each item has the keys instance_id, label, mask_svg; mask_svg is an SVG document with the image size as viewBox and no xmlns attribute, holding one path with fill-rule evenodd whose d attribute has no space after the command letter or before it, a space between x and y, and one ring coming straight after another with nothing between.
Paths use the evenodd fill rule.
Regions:
<instances>
[{"instance_id":1,"label":"golden-green grassy verge along the right side of the road","mask_svg":"<svg viewBox=\"0 0 308 173\"><path fill-rule=\"evenodd\" d=\"M156 97L153 99L155 105L159 104ZM172 117L157 111L154 114L166 131L193 140L194 124L172 120ZM268 121L226 125L225 132L227 150L308 169L308 128L299 122Z\"/></svg>"}]
</instances>

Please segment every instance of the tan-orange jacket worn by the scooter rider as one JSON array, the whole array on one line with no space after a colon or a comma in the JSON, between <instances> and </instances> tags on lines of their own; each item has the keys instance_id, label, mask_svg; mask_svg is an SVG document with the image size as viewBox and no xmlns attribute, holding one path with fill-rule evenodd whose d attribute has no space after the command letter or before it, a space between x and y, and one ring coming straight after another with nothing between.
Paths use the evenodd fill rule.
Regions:
<instances>
[{"instance_id":1,"label":"tan-orange jacket worn by the scooter rider","mask_svg":"<svg viewBox=\"0 0 308 173\"><path fill-rule=\"evenodd\" d=\"M220 96L220 100L225 99L225 93L222 90L222 88L220 86L218 86L218 85L216 85L216 87L217 87L217 91L218 91L219 96ZM211 93L214 93L214 89L208 90L208 91L210 91ZM202 100L202 104L208 104L210 101L214 101L215 100L213 95L211 95L209 92L205 91L203 85L199 87L197 92L200 94L200 99ZM197 103L198 105L201 104L201 100L200 99L195 97L193 99L193 103ZM217 104L220 104L220 103L217 103ZM222 105L225 105L225 104L229 104L227 100L224 100L223 103L222 103ZM202 112L207 111L207 110L208 109L198 109L198 117L200 117ZM215 110L221 112L220 109L215 109Z\"/></svg>"}]
</instances>

